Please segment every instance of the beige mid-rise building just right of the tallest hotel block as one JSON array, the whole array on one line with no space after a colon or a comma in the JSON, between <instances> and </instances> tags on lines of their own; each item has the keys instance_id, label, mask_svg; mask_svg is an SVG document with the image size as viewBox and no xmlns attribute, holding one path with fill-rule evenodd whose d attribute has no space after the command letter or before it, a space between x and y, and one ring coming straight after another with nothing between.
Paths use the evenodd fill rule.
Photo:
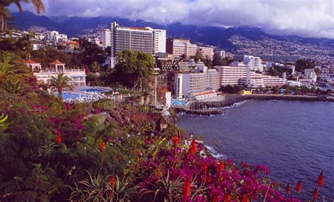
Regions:
<instances>
[{"instance_id":1,"label":"beige mid-rise building just right of the tallest hotel block","mask_svg":"<svg viewBox=\"0 0 334 202\"><path fill-rule=\"evenodd\" d=\"M197 46L197 44L190 43L188 39L167 39L166 43L167 53L173 54L173 56L183 56L186 57L196 56L197 51L201 51L204 58L214 57L214 49L211 47Z\"/></svg>"}]
</instances>

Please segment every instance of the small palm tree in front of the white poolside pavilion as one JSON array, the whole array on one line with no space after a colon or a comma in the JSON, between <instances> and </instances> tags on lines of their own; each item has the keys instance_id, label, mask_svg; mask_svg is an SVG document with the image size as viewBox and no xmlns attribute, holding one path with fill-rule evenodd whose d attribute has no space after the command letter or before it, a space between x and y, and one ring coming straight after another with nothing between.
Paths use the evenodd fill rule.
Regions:
<instances>
[{"instance_id":1,"label":"small palm tree in front of the white poolside pavilion","mask_svg":"<svg viewBox=\"0 0 334 202\"><path fill-rule=\"evenodd\" d=\"M59 73L56 77L52 76L51 79L47 80L49 87L58 91L58 96L61 96L63 89L74 89L71 84L72 80L70 77Z\"/></svg>"}]
</instances>

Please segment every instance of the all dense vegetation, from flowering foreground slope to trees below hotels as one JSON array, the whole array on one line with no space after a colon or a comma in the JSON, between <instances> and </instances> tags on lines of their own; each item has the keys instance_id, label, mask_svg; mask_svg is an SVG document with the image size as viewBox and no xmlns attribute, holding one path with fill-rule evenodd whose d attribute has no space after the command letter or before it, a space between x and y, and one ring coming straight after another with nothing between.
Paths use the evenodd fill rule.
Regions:
<instances>
[{"instance_id":1,"label":"all dense vegetation, from flowering foreground slope to trees below hotels","mask_svg":"<svg viewBox=\"0 0 334 202\"><path fill-rule=\"evenodd\" d=\"M37 8L40 2L32 1ZM66 77L42 84L23 65L29 55L47 63L60 52L31 53L20 39L1 42L0 201L298 201L264 165L217 160L172 120L133 101L63 102L47 89L61 94L70 88ZM85 60L73 63L97 74L103 53L80 43ZM115 73L128 85L149 76L151 57L123 51L120 58ZM323 186L322 173L317 184Z\"/></svg>"}]
</instances>

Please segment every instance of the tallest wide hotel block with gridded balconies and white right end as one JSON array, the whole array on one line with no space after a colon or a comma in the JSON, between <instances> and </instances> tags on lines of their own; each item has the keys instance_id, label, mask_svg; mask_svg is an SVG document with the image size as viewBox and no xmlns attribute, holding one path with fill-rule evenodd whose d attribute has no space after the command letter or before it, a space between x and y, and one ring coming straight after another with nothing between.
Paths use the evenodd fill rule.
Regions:
<instances>
[{"instance_id":1,"label":"tallest wide hotel block with gridded balconies and white right end","mask_svg":"<svg viewBox=\"0 0 334 202\"><path fill-rule=\"evenodd\" d=\"M152 55L166 52L166 30L155 30L151 27L122 27L113 22L110 36L112 56L125 49Z\"/></svg>"}]
</instances>

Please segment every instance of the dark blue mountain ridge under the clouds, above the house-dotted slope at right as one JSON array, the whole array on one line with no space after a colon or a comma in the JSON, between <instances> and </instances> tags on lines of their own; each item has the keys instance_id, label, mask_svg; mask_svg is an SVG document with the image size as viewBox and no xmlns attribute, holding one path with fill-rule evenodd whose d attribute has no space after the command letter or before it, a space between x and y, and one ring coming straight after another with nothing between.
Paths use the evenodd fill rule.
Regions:
<instances>
[{"instance_id":1,"label":"dark blue mountain ridge under the clouds, above the house-dotted slope at right","mask_svg":"<svg viewBox=\"0 0 334 202\"><path fill-rule=\"evenodd\" d=\"M183 25L182 23L173 23L170 25L159 25L149 23L144 20L129 20L126 18L113 17L47 17L35 15L31 12L13 13L15 25L24 30L29 29L32 25L45 27L48 30L58 30L61 33L68 34L69 37L75 37L80 34L87 34L97 27L109 27L113 20L124 26L154 27L167 30L168 37L181 37L191 39L193 42L199 42L211 46L217 46L221 49L240 49L240 46L233 41L233 37L239 36L239 39L249 39L258 42L264 39L272 41L288 42L292 44L311 44L316 46L326 46L334 49L334 39L315 39L302 38L295 36L275 36L266 34L258 27L214 27L214 26L197 26Z\"/></svg>"}]
</instances>

